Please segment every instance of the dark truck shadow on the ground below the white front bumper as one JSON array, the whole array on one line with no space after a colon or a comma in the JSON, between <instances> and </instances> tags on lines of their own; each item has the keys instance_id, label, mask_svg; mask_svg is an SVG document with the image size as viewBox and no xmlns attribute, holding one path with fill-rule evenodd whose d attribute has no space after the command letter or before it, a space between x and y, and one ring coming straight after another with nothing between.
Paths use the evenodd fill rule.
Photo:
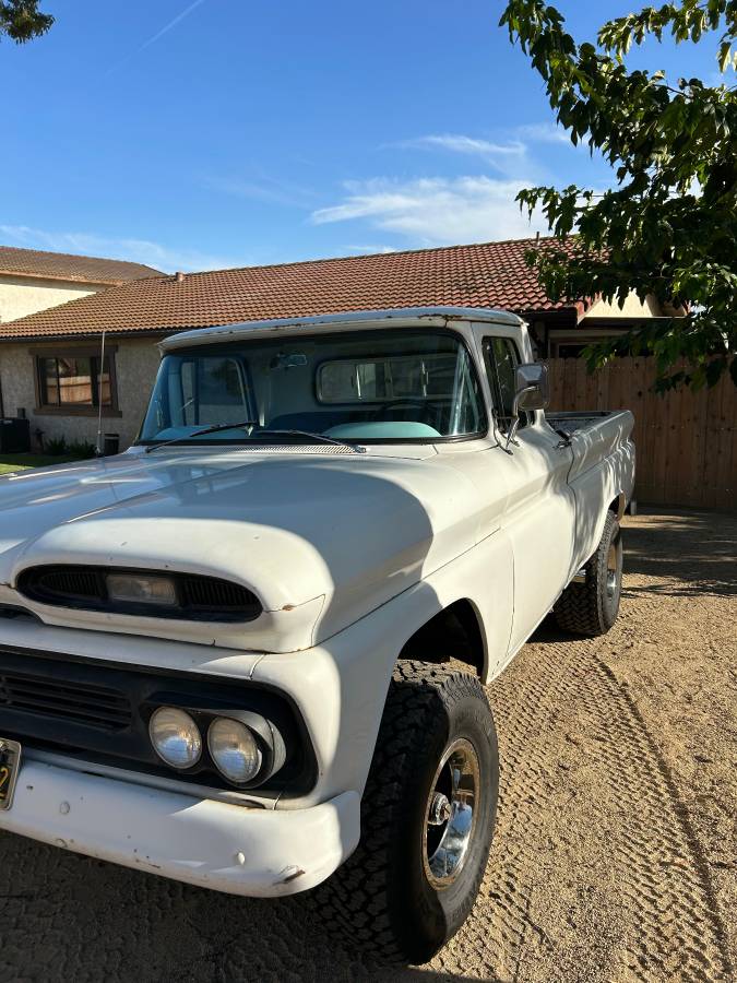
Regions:
<instances>
[{"instance_id":1,"label":"dark truck shadow on the ground below the white front bumper","mask_svg":"<svg viewBox=\"0 0 737 983\"><path fill-rule=\"evenodd\" d=\"M366 962L321 932L309 896L234 898L12 834L0 837L0 868L2 981L464 979Z\"/></svg>"}]
</instances>

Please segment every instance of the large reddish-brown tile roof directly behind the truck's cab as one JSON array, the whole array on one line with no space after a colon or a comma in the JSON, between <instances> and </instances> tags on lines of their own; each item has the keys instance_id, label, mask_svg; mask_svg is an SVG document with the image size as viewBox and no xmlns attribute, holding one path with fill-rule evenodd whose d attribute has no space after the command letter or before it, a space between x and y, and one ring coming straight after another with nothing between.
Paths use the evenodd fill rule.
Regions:
<instances>
[{"instance_id":1,"label":"large reddish-brown tile roof directly behind the truck's cab","mask_svg":"<svg viewBox=\"0 0 737 983\"><path fill-rule=\"evenodd\" d=\"M19 337L174 332L269 318L399 307L569 311L525 264L532 239L176 274L127 283L0 325ZM179 279L178 279L179 277Z\"/></svg>"}]
</instances>

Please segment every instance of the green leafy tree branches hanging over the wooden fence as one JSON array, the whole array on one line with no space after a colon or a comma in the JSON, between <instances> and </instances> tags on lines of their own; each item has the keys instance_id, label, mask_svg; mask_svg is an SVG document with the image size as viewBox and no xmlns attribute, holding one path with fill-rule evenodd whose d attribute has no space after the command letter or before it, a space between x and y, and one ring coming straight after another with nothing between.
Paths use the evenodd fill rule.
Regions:
<instances>
[{"instance_id":1,"label":"green leafy tree branches hanging over the wooden fence","mask_svg":"<svg viewBox=\"0 0 737 983\"><path fill-rule=\"evenodd\" d=\"M616 186L533 188L521 208L540 209L563 248L540 247L527 261L551 298L630 293L655 298L668 313L586 351L589 366L627 352L652 353L663 391L737 384L737 90L692 78L678 91L662 71L628 69L632 44L670 34L716 36L721 68L737 63L737 0L676 0L604 24L598 47L568 34L558 11L539 0L511 0L503 14L512 39L544 79L550 106L571 141L599 151ZM513 25L513 26L512 26ZM674 366L683 360L686 368Z\"/></svg>"}]
</instances>

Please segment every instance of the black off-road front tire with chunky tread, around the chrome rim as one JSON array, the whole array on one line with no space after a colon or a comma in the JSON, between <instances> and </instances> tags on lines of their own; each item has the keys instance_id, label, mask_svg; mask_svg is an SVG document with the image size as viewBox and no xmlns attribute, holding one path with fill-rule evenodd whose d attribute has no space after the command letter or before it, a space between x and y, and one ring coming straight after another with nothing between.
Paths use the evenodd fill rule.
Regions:
<instances>
[{"instance_id":1,"label":"black off-road front tire with chunky tread, around the chrome rim","mask_svg":"<svg viewBox=\"0 0 737 983\"><path fill-rule=\"evenodd\" d=\"M471 743L478 809L465 861L437 888L427 876L427 806L443 755ZM320 916L379 962L427 962L467 917L494 834L499 753L494 716L475 676L400 661L361 801L356 852L317 892ZM437 827L436 827L437 828Z\"/></svg>"}]
</instances>

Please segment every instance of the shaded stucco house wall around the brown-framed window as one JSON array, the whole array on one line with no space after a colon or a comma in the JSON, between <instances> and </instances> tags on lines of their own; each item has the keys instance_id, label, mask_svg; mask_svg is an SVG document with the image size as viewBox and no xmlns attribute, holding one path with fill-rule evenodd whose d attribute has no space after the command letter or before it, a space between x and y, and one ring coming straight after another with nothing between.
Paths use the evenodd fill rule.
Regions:
<instances>
[{"instance_id":1,"label":"shaded stucco house wall around the brown-framed window","mask_svg":"<svg viewBox=\"0 0 737 983\"><path fill-rule=\"evenodd\" d=\"M90 345L90 341L85 343ZM97 342L95 342L97 344ZM115 362L118 381L118 404L120 416L103 414L103 433L119 434L120 449L129 447L134 440L148 394L156 377L159 354L156 339L110 339L109 346L116 346ZM96 416L62 416L36 414L36 393L34 386L34 348L38 345L0 343L0 384L5 416L15 416L19 408L24 408L31 421L31 434L43 430L44 439L63 437L68 443L86 440L95 443L97 439ZM55 347L54 342L41 345L45 350ZM64 352L72 346L63 343Z\"/></svg>"}]
</instances>

